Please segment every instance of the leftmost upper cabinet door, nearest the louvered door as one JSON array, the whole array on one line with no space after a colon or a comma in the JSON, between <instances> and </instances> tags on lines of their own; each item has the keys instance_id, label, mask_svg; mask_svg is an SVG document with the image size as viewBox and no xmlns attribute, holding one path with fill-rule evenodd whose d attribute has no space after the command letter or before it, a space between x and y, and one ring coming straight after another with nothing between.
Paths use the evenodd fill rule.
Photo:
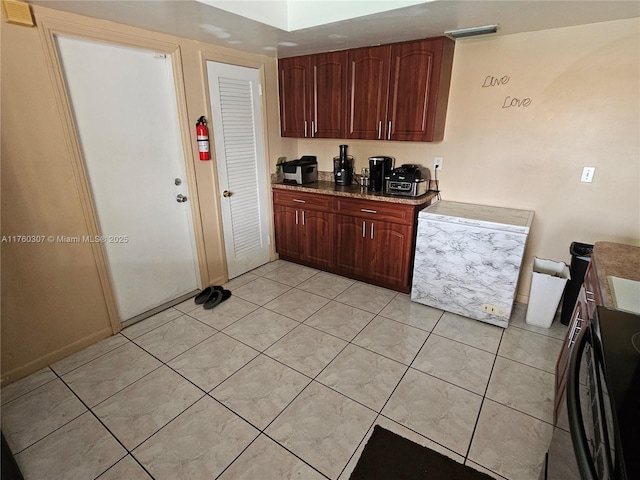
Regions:
<instances>
[{"instance_id":1,"label":"leftmost upper cabinet door, nearest the louvered door","mask_svg":"<svg viewBox=\"0 0 640 480\"><path fill-rule=\"evenodd\" d=\"M309 134L309 77L308 56L278 60L280 135L283 137L303 138Z\"/></svg>"}]
</instances>

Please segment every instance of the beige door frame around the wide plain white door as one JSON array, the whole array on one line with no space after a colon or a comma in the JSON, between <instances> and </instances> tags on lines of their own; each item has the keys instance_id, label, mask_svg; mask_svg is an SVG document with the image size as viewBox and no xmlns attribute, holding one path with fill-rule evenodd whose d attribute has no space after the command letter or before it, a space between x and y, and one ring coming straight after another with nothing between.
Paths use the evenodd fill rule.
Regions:
<instances>
[{"instance_id":1,"label":"beige door frame around the wide plain white door","mask_svg":"<svg viewBox=\"0 0 640 480\"><path fill-rule=\"evenodd\" d=\"M65 132L65 143L69 154L74 180L78 190L80 205L84 216L85 226L90 236L99 236L100 228L97 220L96 209L89 188L88 174L84 165L80 142L73 119L73 109L67 95L63 77L62 64L56 48L55 36L68 36L84 40L93 40L115 45L152 50L171 56L173 79L176 90L176 104L178 107L178 123L180 125L180 138L185 162L185 171L190 196L191 215L193 218L196 255L201 285L209 284L209 271L206 265L204 251L204 233L200 216L200 203L197 191L195 168L193 165L194 151L191 142L189 119L187 114L186 91L182 77L182 56L180 46L175 43L145 38L142 36L123 33L106 26L96 27L82 23L60 20L53 17L42 16L39 19L38 29L44 48L44 55L50 65L50 75L53 83L55 102L61 117L62 129ZM109 271L104 246L101 243L91 243L92 253L96 262L98 276L102 285L104 301L109 315L112 332L118 333L122 329L122 322L116 306L112 277Z\"/></svg>"}]
</instances>

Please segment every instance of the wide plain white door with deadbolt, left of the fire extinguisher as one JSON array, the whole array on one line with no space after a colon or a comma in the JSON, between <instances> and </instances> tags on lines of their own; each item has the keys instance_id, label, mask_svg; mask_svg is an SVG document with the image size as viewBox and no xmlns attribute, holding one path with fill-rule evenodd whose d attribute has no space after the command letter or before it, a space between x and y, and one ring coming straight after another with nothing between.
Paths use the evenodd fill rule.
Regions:
<instances>
[{"instance_id":1,"label":"wide plain white door with deadbolt, left of the fire extinguisher","mask_svg":"<svg viewBox=\"0 0 640 480\"><path fill-rule=\"evenodd\" d=\"M171 58L56 43L124 322L200 284Z\"/></svg>"}]
</instances>

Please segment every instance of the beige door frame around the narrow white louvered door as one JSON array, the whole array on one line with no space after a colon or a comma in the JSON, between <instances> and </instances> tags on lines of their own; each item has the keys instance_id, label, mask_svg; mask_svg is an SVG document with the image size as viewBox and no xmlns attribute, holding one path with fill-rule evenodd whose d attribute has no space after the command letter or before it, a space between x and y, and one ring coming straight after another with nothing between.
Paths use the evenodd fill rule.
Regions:
<instances>
[{"instance_id":1,"label":"beige door frame around the narrow white louvered door","mask_svg":"<svg viewBox=\"0 0 640 480\"><path fill-rule=\"evenodd\" d=\"M268 110L267 110L267 94L266 94L267 82L266 82L266 75L265 75L265 65L264 63L255 61L255 60L243 59L240 57L226 55L224 53L220 53L212 50L205 50L205 49L201 50L200 51L200 71L201 71L201 78L202 78L202 87L204 89L205 97L206 97L204 108L205 108L207 119L213 118L212 112L211 112L211 92L209 91L209 75L207 73L207 62L209 61L226 63L229 65L234 65L238 67L248 67L248 68L253 68L255 70L258 70L258 77L260 79L260 84L262 85L262 95L260 96L262 131L259 132L259 134L262 136L262 142L264 145L264 162L265 162L265 173L266 173L265 178L259 179L259 181L262 181L265 186L264 191L266 192L266 198L261 199L261 201L264 201L265 205L267 205L267 216L269 218L269 243L270 243L269 257L270 257L270 260L273 261L275 259L275 242L273 241L274 240L273 202L272 202L271 195L269 194L269 192L271 192L271 177L269 173L270 172L270 166L269 166L270 148L269 148L269 131L267 128ZM210 125L210 127L212 127L212 125ZM215 162L216 161L215 136L211 131L209 132L209 142L210 142L209 151L211 153L211 160ZM218 212L217 227L218 227L218 231L220 233L220 239L221 239L221 241L217 245L217 248L218 248L217 253L220 256L220 258L223 258L225 260L222 267L224 270L224 278L228 280L229 274L228 274L227 262L226 262L227 253L226 253L224 240L223 240L224 225L222 222L222 204L220 202L220 197L222 196L222 192L220 191L218 169L216 168L217 163L214 164L213 162L211 162L211 169L210 169L211 181L213 185L212 203L214 205L215 210Z\"/></svg>"}]
</instances>

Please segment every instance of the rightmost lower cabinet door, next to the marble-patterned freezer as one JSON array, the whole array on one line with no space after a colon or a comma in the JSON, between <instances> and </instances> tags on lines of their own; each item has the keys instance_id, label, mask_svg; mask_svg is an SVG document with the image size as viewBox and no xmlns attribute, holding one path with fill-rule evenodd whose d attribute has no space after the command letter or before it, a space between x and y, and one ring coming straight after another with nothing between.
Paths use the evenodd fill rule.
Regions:
<instances>
[{"instance_id":1,"label":"rightmost lower cabinet door, next to the marble-patterned freezer","mask_svg":"<svg viewBox=\"0 0 640 480\"><path fill-rule=\"evenodd\" d=\"M411 226L387 222L367 222L369 276L389 286L409 286Z\"/></svg>"}]
</instances>

